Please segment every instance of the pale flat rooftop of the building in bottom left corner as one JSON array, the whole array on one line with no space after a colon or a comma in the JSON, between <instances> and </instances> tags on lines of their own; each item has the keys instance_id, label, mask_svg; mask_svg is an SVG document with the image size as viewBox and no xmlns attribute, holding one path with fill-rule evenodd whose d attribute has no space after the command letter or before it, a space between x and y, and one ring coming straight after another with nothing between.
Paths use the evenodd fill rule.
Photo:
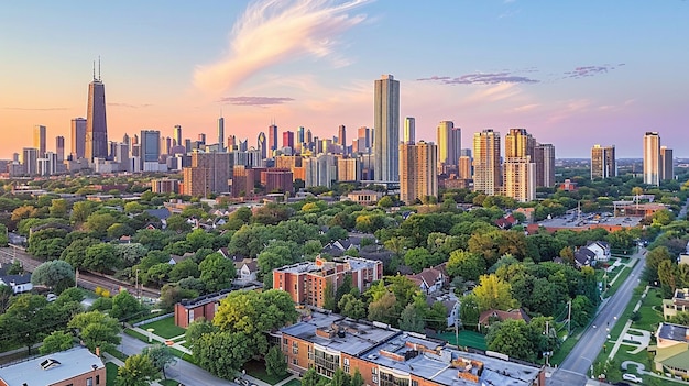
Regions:
<instances>
[{"instance_id":1,"label":"pale flat rooftop of the building in bottom left corner","mask_svg":"<svg viewBox=\"0 0 689 386\"><path fill-rule=\"evenodd\" d=\"M54 364L44 370L41 363L48 360L53 360ZM74 348L2 367L0 368L0 382L4 382L8 386L53 385L102 367L105 365L100 357L91 354L88 349ZM105 382L101 379L101 384Z\"/></svg>"}]
</instances>

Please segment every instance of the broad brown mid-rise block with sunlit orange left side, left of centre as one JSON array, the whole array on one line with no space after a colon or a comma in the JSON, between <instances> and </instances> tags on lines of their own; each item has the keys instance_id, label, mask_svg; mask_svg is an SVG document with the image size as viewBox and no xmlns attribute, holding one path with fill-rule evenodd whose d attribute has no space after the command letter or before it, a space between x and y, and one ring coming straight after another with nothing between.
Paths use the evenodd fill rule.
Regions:
<instances>
[{"instance_id":1,"label":"broad brown mid-rise block with sunlit orange left side, left of centre","mask_svg":"<svg viewBox=\"0 0 689 386\"><path fill-rule=\"evenodd\" d=\"M183 169L184 195L204 196L229 190L232 178L230 153L192 153L192 166Z\"/></svg>"}]
</instances>

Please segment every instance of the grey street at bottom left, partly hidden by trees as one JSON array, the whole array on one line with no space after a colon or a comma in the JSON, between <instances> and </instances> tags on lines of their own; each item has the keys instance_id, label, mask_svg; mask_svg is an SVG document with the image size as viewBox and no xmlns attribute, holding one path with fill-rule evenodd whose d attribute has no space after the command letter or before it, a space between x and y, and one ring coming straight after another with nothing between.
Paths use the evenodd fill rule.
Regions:
<instances>
[{"instance_id":1,"label":"grey street at bottom left, partly hidden by trees","mask_svg":"<svg viewBox=\"0 0 689 386\"><path fill-rule=\"evenodd\" d=\"M121 333L122 343L117 348L127 355L141 354L143 348L149 344L136 338ZM165 374L168 378L176 379L187 386L238 386L229 381L220 379L207 371L186 361L178 360L177 363L167 367Z\"/></svg>"}]
</instances>

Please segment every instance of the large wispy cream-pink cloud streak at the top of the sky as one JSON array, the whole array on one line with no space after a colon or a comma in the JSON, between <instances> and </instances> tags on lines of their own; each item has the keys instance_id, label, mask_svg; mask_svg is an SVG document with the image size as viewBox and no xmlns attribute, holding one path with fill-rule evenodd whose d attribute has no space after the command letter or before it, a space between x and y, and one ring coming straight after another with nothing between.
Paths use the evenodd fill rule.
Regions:
<instances>
[{"instance_id":1,"label":"large wispy cream-pink cloud streak at the top of the sky","mask_svg":"<svg viewBox=\"0 0 689 386\"><path fill-rule=\"evenodd\" d=\"M330 56L336 37L361 23L365 15L351 15L369 0L258 0L232 27L228 54L220 60L198 66L195 85L222 92L261 69L299 55ZM348 62L333 59L335 66Z\"/></svg>"}]
</instances>

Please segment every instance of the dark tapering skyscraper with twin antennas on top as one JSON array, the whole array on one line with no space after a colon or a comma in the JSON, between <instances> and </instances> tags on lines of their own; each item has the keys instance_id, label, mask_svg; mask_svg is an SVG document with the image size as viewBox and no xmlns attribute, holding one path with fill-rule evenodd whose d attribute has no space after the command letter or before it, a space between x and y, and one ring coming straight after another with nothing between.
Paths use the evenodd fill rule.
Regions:
<instances>
[{"instance_id":1,"label":"dark tapering skyscraper with twin antennas on top","mask_svg":"<svg viewBox=\"0 0 689 386\"><path fill-rule=\"evenodd\" d=\"M94 158L107 158L106 86L100 79L100 59L98 60L98 78L96 78L96 68L94 66L94 81L88 85L88 106L86 111L86 146L84 156L89 162L92 162Z\"/></svg>"}]
</instances>

